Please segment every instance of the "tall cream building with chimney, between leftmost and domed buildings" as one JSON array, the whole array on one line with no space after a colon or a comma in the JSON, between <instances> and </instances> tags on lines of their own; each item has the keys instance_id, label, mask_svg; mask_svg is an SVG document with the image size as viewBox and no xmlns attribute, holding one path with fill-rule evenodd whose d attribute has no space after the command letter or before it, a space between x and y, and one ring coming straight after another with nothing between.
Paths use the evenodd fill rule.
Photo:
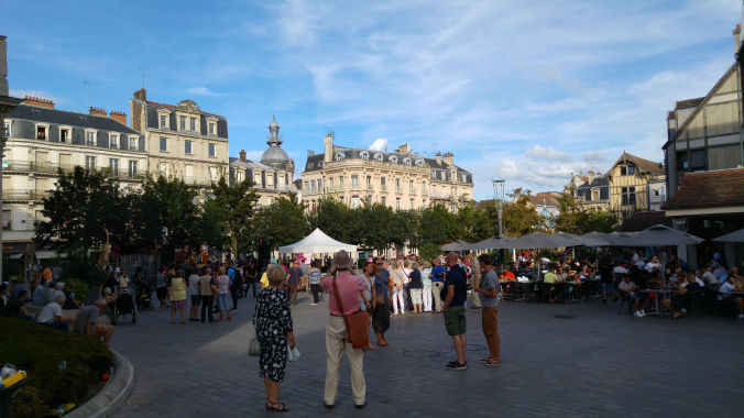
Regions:
<instances>
[{"instance_id":1,"label":"tall cream building with chimney, between leftmost and domed buildings","mask_svg":"<svg viewBox=\"0 0 744 418\"><path fill-rule=\"evenodd\" d=\"M149 101L140 89L130 100L130 127L145 138L149 170L207 188L228 176L228 121L192 100L178 105Z\"/></svg>"}]
</instances>

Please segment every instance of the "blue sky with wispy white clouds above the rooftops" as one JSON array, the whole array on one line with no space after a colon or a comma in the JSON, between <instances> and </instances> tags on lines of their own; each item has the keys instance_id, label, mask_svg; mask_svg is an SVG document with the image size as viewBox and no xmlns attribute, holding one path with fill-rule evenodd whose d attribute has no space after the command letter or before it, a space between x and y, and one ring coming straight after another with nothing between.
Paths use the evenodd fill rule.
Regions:
<instances>
[{"instance_id":1,"label":"blue sky with wispy white clouds above the rooftops","mask_svg":"<svg viewBox=\"0 0 744 418\"><path fill-rule=\"evenodd\" d=\"M741 0L0 0L11 95L129 113L192 99L260 160L275 116L307 151L452 152L478 200L562 190L626 151L661 162L666 113L734 62ZM144 80L143 80L144 73Z\"/></svg>"}]
</instances>

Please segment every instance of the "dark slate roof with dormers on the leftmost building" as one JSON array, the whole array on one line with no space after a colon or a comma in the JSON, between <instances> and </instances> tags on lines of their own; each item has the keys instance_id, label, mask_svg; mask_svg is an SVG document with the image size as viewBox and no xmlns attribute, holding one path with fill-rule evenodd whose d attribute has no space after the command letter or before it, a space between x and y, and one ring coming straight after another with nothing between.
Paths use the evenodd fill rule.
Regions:
<instances>
[{"instance_id":1,"label":"dark slate roof with dormers on the leftmost building","mask_svg":"<svg viewBox=\"0 0 744 418\"><path fill-rule=\"evenodd\" d=\"M139 135L140 132L120 123L109 117L99 117L70 112L59 109L43 108L39 106L19 105L15 109L6 113L8 119L23 119L30 121L62 124L69 127L92 128L99 131L113 131Z\"/></svg>"}]
</instances>

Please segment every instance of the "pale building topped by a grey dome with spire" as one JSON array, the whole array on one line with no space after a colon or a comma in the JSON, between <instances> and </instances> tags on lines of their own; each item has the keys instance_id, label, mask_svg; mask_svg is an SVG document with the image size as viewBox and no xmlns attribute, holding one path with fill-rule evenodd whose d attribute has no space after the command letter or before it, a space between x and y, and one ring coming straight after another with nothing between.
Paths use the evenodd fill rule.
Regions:
<instances>
[{"instance_id":1,"label":"pale building topped by a grey dome with spire","mask_svg":"<svg viewBox=\"0 0 744 418\"><path fill-rule=\"evenodd\" d=\"M259 205L271 205L278 197L288 197L297 193L294 184L295 162L282 150L282 135L276 119L269 124L266 144L269 148L261 156L261 162L250 161L245 151L240 151L240 157L230 157L230 182L232 184L251 179L259 194Z\"/></svg>"}]
</instances>

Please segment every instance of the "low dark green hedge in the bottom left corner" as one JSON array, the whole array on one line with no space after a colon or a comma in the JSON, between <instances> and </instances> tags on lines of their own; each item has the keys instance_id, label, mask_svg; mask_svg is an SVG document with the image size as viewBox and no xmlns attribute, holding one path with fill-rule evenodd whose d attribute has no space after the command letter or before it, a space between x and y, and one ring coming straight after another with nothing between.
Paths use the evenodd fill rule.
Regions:
<instances>
[{"instance_id":1,"label":"low dark green hedge in the bottom left corner","mask_svg":"<svg viewBox=\"0 0 744 418\"><path fill-rule=\"evenodd\" d=\"M89 388L99 384L101 374L113 364L111 351L90 337L7 317L0 317L0 329L2 361L26 372L26 387L39 391L29 394L30 398L39 395L46 410L87 400ZM67 369L59 370L61 361L67 362ZM12 402L14 411L18 403L19 398Z\"/></svg>"}]
</instances>

